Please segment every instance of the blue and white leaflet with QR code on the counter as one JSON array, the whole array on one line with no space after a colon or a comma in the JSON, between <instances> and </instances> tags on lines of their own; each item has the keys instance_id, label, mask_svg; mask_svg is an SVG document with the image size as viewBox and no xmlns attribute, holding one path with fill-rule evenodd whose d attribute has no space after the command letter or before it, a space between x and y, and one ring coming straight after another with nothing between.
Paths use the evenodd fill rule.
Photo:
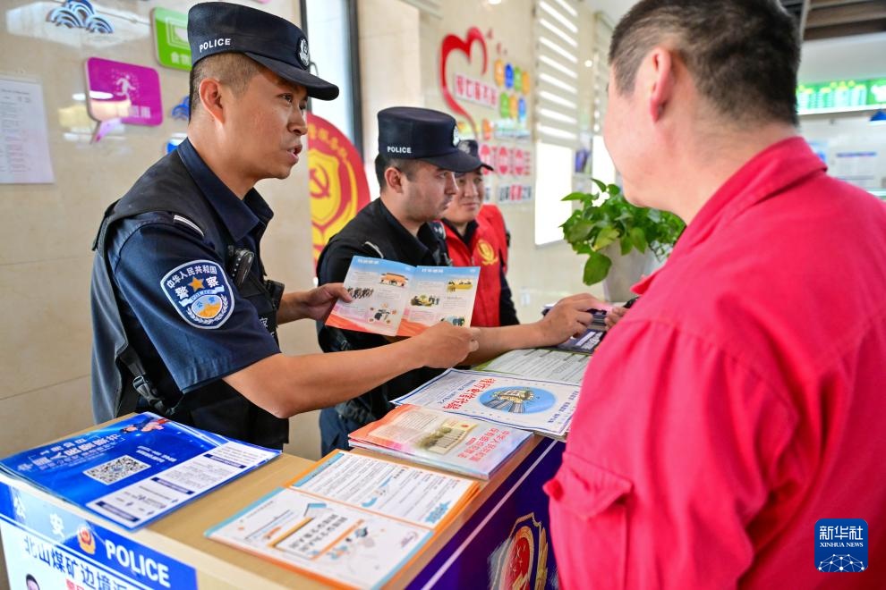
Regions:
<instances>
[{"instance_id":1,"label":"blue and white leaflet with QR code on the counter","mask_svg":"<svg viewBox=\"0 0 886 590\"><path fill-rule=\"evenodd\" d=\"M144 413L22 451L0 469L134 529L278 454Z\"/></svg>"}]
</instances>

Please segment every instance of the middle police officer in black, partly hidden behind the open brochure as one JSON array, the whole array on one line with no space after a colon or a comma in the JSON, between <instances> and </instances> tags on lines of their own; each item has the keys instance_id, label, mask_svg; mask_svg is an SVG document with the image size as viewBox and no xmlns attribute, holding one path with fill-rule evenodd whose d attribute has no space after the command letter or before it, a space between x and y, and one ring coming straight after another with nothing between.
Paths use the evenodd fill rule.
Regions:
<instances>
[{"instance_id":1,"label":"middle police officer in black, partly hidden behind the open brochure","mask_svg":"<svg viewBox=\"0 0 886 590\"><path fill-rule=\"evenodd\" d=\"M320 254L319 283L343 281L354 256L380 257L409 265L450 265L445 232L439 220L456 195L453 173L466 173L481 161L458 146L456 120L426 108L396 106L379 112L379 156L375 172L381 189L345 225ZM597 299L574 295L558 302L534 324L481 328L479 348L465 359L473 364L507 350L547 346L584 333ZM320 348L326 351L371 350L384 345L384 336L340 330L318 324ZM377 420L393 400L439 375L422 367L389 380L371 392L320 412L324 454L347 448L347 434Z\"/></svg>"}]
</instances>

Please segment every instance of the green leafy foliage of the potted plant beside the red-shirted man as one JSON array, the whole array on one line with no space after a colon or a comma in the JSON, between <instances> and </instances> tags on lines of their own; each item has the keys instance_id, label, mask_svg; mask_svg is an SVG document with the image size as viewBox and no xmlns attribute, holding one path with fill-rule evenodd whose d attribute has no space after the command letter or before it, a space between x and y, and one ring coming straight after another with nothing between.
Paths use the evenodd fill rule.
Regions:
<instances>
[{"instance_id":1,"label":"green leafy foliage of the potted plant beside the red-shirted man","mask_svg":"<svg viewBox=\"0 0 886 590\"><path fill-rule=\"evenodd\" d=\"M581 205L561 227L572 249L588 256L584 283L592 285L605 279L613 256L626 257L637 250L642 254L652 251L660 261L668 257L686 224L677 215L631 205L615 184L592 181L599 191L574 192L563 198Z\"/></svg>"}]
</instances>

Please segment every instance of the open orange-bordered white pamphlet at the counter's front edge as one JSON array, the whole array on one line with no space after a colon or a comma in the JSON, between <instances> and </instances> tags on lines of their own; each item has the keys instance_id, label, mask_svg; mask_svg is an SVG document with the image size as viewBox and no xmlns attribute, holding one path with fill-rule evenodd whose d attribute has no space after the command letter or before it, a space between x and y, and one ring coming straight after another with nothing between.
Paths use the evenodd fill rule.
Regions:
<instances>
[{"instance_id":1,"label":"open orange-bordered white pamphlet at the counter's front edge","mask_svg":"<svg viewBox=\"0 0 886 590\"><path fill-rule=\"evenodd\" d=\"M478 489L464 477L336 451L206 535L326 583L379 587Z\"/></svg>"}]
</instances>

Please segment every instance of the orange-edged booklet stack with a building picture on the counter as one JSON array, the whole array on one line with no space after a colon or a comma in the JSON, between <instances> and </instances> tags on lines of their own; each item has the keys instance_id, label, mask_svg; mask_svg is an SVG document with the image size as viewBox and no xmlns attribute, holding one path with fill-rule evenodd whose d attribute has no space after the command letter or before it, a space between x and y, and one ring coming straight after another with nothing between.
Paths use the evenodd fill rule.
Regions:
<instances>
[{"instance_id":1,"label":"orange-edged booklet stack with a building picture on the counter","mask_svg":"<svg viewBox=\"0 0 886 590\"><path fill-rule=\"evenodd\" d=\"M349 435L351 446L466 476L490 475L532 434L405 404Z\"/></svg>"}]
</instances>

